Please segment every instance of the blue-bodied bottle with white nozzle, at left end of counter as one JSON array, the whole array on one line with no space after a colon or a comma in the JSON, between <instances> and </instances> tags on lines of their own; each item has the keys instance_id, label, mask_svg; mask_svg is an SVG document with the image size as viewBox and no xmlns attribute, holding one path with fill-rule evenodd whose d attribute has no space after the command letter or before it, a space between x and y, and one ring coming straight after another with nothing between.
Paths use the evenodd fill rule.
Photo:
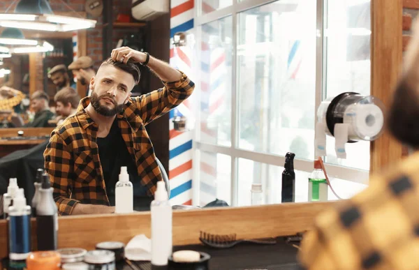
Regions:
<instances>
[{"instance_id":1,"label":"blue-bodied bottle with white nozzle, at left end of counter","mask_svg":"<svg viewBox=\"0 0 419 270\"><path fill-rule=\"evenodd\" d=\"M9 258L26 260L31 252L31 207L27 205L24 190L17 190L9 214Z\"/></svg>"}]
</instances>

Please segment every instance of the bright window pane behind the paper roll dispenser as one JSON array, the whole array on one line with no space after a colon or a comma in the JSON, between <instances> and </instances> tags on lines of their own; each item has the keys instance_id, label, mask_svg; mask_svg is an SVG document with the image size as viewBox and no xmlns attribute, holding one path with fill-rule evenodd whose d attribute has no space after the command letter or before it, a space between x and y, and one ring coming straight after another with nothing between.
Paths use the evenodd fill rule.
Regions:
<instances>
[{"instance_id":1,"label":"bright window pane behind the paper roll dispenser","mask_svg":"<svg viewBox=\"0 0 419 270\"><path fill-rule=\"evenodd\" d=\"M325 97L343 92L369 96L370 1L327 1L325 22ZM369 170L369 142L346 144L346 159L337 159L335 139L327 138L328 163Z\"/></svg>"}]
</instances>

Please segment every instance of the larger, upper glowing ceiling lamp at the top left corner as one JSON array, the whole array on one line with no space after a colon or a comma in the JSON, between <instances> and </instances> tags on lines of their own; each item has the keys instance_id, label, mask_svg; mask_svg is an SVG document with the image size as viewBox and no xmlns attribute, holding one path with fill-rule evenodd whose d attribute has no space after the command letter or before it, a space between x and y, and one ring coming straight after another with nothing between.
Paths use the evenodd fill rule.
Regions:
<instances>
[{"instance_id":1,"label":"larger, upper glowing ceiling lamp at the top left corner","mask_svg":"<svg viewBox=\"0 0 419 270\"><path fill-rule=\"evenodd\" d=\"M67 3L60 1L76 13ZM0 14L0 27L66 32L88 29L95 25L96 20L54 15L47 0L20 0L15 8L15 13Z\"/></svg>"}]
</instances>

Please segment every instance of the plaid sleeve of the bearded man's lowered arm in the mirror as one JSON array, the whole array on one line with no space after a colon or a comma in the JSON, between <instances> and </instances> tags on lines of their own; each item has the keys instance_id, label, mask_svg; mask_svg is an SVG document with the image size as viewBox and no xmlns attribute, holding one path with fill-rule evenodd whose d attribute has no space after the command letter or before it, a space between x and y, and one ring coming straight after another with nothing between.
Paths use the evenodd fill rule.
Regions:
<instances>
[{"instance_id":1,"label":"plaid sleeve of the bearded man's lowered arm in the mirror","mask_svg":"<svg viewBox=\"0 0 419 270\"><path fill-rule=\"evenodd\" d=\"M71 215L78 200L70 199L73 175L73 158L68 146L57 133L53 133L44 151L45 171L50 174L53 197L59 215Z\"/></svg>"}]
</instances>

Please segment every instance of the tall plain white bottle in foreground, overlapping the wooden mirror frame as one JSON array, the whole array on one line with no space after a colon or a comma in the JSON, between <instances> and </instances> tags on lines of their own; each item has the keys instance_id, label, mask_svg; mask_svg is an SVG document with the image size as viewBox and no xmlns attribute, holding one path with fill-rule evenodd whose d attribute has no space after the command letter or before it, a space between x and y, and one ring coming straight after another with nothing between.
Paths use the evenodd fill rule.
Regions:
<instances>
[{"instance_id":1,"label":"tall plain white bottle in foreground, overlapping the wooden mirror frame","mask_svg":"<svg viewBox=\"0 0 419 270\"><path fill-rule=\"evenodd\" d=\"M172 254L172 207L163 181L157 182L152 211L152 266L168 264Z\"/></svg>"}]
</instances>

